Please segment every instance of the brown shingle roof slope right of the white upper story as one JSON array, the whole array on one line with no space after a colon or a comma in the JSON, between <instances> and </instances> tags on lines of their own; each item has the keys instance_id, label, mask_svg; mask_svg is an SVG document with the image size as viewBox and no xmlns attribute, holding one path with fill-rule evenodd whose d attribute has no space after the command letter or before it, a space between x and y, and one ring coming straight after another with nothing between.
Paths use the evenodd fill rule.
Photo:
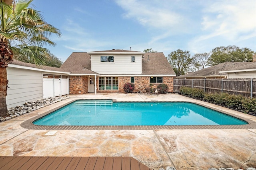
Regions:
<instances>
[{"instance_id":1,"label":"brown shingle roof slope right of the white upper story","mask_svg":"<svg viewBox=\"0 0 256 170\"><path fill-rule=\"evenodd\" d=\"M176 75L164 53L145 53L142 57L142 74Z\"/></svg>"}]
</instances>

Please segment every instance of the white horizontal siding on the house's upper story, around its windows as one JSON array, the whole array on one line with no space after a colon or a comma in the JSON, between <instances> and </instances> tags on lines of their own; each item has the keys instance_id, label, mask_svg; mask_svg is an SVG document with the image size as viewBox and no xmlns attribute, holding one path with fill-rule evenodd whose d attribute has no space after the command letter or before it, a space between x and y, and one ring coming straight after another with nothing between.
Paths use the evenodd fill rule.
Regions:
<instances>
[{"instance_id":1,"label":"white horizontal siding on the house's upper story, around its windows","mask_svg":"<svg viewBox=\"0 0 256 170\"><path fill-rule=\"evenodd\" d=\"M114 62L100 62L101 55L92 55L92 71L99 74L141 74L141 55L114 55ZM111 55L112 56L112 55ZM135 62L131 62L131 56L135 56Z\"/></svg>"}]
</instances>

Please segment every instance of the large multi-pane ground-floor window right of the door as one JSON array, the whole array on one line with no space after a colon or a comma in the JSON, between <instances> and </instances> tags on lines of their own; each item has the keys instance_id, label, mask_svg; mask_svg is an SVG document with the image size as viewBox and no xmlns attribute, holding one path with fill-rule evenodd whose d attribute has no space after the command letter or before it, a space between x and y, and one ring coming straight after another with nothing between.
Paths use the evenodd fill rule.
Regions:
<instances>
[{"instance_id":1,"label":"large multi-pane ground-floor window right of the door","mask_svg":"<svg viewBox=\"0 0 256 170\"><path fill-rule=\"evenodd\" d=\"M118 77L99 77L99 90L118 90Z\"/></svg>"}]
</instances>

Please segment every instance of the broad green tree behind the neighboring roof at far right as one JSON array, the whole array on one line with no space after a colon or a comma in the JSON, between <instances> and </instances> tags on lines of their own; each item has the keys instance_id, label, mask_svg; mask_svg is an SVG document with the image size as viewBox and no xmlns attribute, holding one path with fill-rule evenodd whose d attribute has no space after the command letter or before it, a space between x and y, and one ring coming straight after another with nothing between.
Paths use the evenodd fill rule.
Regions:
<instances>
[{"instance_id":1,"label":"broad green tree behind the neighboring roof at far right","mask_svg":"<svg viewBox=\"0 0 256 170\"><path fill-rule=\"evenodd\" d=\"M236 45L221 46L212 49L212 55L208 59L208 64L214 66L216 64L224 63L226 61L252 61L252 56L255 54L249 48L240 48Z\"/></svg>"}]
</instances>

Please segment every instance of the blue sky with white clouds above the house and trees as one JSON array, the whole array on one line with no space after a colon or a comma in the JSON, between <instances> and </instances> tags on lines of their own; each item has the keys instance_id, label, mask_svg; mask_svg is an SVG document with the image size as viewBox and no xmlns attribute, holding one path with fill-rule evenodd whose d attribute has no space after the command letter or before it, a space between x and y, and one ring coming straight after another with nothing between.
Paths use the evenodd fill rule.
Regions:
<instances>
[{"instance_id":1,"label":"blue sky with white clouds above the house and trees","mask_svg":"<svg viewBox=\"0 0 256 170\"><path fill-rule=\"evenodd\" d=\"M34 0L60 29L46 46L65 61L72 52L124 49L209 53L236 45L256 52L256 0Z\"/></svg>"}]
</instances>

